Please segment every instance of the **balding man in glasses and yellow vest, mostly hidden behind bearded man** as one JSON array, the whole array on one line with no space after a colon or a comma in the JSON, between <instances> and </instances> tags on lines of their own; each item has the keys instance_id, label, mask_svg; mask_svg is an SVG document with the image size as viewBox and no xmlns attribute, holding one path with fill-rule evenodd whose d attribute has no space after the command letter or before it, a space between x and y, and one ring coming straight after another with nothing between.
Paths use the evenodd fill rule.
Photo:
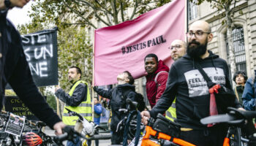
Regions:
<instances>
[{"instance_id":1,"label":"balding man in glasses and yellow vest, mostly hidden behind bearded man","mask_svg":"<svg viewBox=\"0 0 256 146\"><path fill-rule=\"evenodd\" d=\"M173 61L177 61L178 58L181 58L186 54L186 42L181 41L180 39L175 39L170 44L170 55L173 58ZM165 112L165 118L169 120L176 120L176 99L174 99L173 104Z\"/></svg>"}]
</instances>

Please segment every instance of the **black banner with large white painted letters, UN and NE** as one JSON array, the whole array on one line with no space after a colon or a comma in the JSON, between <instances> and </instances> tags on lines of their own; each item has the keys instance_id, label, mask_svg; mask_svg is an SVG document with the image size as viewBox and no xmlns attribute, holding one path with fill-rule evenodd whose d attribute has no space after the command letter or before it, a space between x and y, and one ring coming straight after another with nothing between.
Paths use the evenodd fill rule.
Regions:
<instances>
[{"instance_id":1,"label":"black banner with large white painted letters, UN and NE","mask_svg":"<svg viewBox=\"0 0 256 146\"><path fill-rule=\"evenodd\" d=\"M57 28L21 37L26 60L36 85L58 85Z\"/></svg>"}]
</instances>

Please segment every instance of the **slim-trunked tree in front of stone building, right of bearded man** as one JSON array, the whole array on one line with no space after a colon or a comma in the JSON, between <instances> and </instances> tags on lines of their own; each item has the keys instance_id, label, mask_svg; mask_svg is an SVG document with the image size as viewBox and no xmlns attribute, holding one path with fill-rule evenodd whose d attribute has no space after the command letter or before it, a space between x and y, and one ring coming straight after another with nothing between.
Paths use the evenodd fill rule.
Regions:
<instances>
[{"instance_id":1,"label":"slim-trunked tree in front of stone building, right of bearded man","mask_svg":"<svg viewBox=\"0 0 256 146\"><path fill-rule=\"evenodd\" d=\"M192 2L192 0L190 1ZM234 28L233 15L238 0L197 0L195 4L200 5L202 4L203 1L211 2L211 7L216 8L217 12L222 12L222 15L225 16L224 20L222 20L222 25L227 26L227 42L230 56L230 72L232 74L231 77L233 77L233 74L236 73L236 59L232 39L232 28Z\"/></svg>"}]
</instances>

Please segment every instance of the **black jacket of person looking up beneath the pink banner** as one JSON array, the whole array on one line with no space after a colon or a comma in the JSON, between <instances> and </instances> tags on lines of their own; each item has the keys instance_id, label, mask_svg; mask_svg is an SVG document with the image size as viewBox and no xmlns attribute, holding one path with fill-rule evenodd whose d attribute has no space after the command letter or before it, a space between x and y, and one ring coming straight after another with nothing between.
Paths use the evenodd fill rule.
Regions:
<instances>
[{"instance_id":1,"label":"black jacket of person looking up beneath the pink banner","mask_svg":"<svg viewBox=\"0 0 256 146\"><path fill-rule=\"evenodd\" d=\"M124 118L125 115L119 112L119 109L126 109L126 99L131 99L135 101L135 86L130 84L118 85L116 88L110 89L108 91L104 89L94 88L94 91L97 92L100 96L110 99L110 106L112 111L112 118L110 123L110 128L112 131L116 131L117 124ZM126 93L129 91L129 93ZM124 93L127 97L124 97Z\"/></svg>"}]
</instances>

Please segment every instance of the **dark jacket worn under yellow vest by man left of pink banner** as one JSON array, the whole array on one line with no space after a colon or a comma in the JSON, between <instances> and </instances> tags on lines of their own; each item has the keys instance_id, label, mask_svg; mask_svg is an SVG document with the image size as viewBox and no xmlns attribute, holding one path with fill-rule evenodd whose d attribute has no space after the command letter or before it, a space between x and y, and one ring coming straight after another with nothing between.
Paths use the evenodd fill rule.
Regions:
<instances>
[{"instance_id":1,"label":"dark jacket worn under yellow vest by man left of pink banner","mask_svg":"<svg viewBox=\"0 0 256 146\"><path fill-rule=\"evenodd\" d=\"M75 85L75 83L73 85ZM71 86L71 88L73 87L73 85ZM78 86L75 88L75 91L73 92L72 96L69 96L69 94L66 93L61 88L58 91L56 91L55 95L59 99L61 99L61 101L64 101L65 104L67 104L71 107L78 107L78 105L82 101L86 101L86 99L87 99L87 96L86 96L87 95L87 85L85 85L83 82L78 84Z\"/></svg>"}]
</instances>

